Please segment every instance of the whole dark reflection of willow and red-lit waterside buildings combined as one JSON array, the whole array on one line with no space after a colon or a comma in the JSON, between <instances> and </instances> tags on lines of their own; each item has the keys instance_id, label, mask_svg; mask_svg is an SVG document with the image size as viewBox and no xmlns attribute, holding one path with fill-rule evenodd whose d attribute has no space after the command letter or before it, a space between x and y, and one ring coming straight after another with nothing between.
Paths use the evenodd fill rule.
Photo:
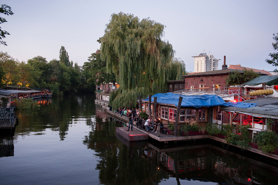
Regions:
<instances>
[{"instance_id":1,"label":"whole dark reflection of willow and red-lit waterside buildings combined","mask_svg":"<svg viewBox=\"0 0 278 185\"><path fill-rule=\"evenodd\" d=\"M102 184L159 184L175 178L176 183L198 181L217 184L275 184L278 168L248 159L211 144L161 145L128 142L117 136L113 118L97 117L95 129L84 144L97 152ZM141 144L138 146L138 144Z\"/></svg>"}]
</instances>

